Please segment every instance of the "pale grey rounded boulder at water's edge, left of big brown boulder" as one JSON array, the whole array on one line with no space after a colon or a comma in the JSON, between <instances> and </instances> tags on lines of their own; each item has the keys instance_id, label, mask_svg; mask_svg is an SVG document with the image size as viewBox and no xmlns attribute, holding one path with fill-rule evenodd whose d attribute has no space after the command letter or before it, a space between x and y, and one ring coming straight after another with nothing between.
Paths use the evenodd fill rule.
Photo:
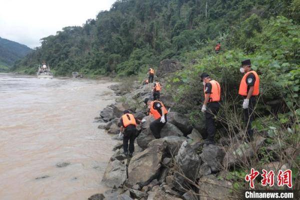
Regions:
<instances>
[{"instance_id":1,"label":"pale grey rounded boulder at water's edge, left of big brown boulder","mask_svg":"<svg viewBox=\"0 0 300 200\"><path fill-rule=\"evenodd\" d=\"M126 179L126 165L115 159L108 162L101 182L108 187L120 187Z\"/></svg>"}]
</instances>

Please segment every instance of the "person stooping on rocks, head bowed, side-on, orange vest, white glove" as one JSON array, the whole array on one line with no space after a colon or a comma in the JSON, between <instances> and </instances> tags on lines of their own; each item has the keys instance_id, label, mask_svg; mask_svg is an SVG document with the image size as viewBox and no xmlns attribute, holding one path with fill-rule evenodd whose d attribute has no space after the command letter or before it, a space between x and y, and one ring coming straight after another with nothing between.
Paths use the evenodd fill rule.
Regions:
<instances>
[{"instance_id":1,"label":"person stooping on rocks, head bowed, side-on, orange vest, white glove","mask_svg":"<svg viewBox=\"0 0 300 200\"><path fill-rule=\"evenodd\" d=\"M157 100L152 101L151 99L145 98L144 103L150 109L149 115L155 119L150 123L150 130L152 131L153 136L158 139L160 138L160 131L167 121L167 110L163 103Z\"/></svg>"}]
</instances>

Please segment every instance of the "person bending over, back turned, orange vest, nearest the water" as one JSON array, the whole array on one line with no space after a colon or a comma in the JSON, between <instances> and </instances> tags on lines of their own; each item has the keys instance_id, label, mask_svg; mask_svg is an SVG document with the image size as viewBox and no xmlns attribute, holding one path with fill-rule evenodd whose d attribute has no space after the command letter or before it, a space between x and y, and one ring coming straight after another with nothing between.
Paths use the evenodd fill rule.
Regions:
<instances>
[{"instance_id":1,"label":"person bending over, back turned, orange vest, nearest the water","mask_svg":"<svg viewBox=\"0 0 300 200\"><path fill-rule=\"evenodd\" d=\"M124 114L120 118L120 133L123 132L123 150L124 155L132 156L134 151L134 139L136 137L136 122L142 123L144 121L140 121L139 119L134 118L132 114L129 113L128 110L123 112ZM128 140L129 140L129 148L128 148Z\"/></svg>"}]
</instances>

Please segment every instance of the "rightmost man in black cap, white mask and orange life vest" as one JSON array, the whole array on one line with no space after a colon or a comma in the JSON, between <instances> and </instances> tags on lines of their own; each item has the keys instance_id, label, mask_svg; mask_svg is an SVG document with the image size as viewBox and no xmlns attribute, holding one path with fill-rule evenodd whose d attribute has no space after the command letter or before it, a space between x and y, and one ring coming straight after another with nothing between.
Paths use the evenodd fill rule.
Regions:
<instances>
[{"instance_id":1,"label":"rightmost man in black cap, white mask and orange life vest","mask_svg":"<svg viewBox=\"0 0 300 200\"><path fill-rule=\"evenodd\" d=\"M244 75L240 81L238 94L243 96L242 108L247 129L246 137L248 141L251 141L253 137L251 122L254 120L255 96L259 94L259 77L257 73L251 69L251 61L249 59L241 62L239 71L244 73Z\"/></svg>"}]
</instances>

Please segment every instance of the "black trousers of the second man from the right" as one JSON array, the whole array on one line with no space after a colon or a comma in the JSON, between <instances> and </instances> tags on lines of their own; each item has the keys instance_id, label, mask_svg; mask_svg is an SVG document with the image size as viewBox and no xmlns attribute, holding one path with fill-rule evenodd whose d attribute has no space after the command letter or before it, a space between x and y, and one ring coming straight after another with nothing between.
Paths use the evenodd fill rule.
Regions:
<instances>
[{"instance_id":1,"label":"black trousers of the second man from the right","mask_svg":"<svg viewBox=\"0 0 300 200\"><path fill-rule=\"evenodd\" d=\"M217 114L220 108L218 102L211 102L207 104L207 110L205 111L205 128L207 131L207 139L214 141L215 134L215 119L214 115Z\"/></svg>"}]
</instances>

